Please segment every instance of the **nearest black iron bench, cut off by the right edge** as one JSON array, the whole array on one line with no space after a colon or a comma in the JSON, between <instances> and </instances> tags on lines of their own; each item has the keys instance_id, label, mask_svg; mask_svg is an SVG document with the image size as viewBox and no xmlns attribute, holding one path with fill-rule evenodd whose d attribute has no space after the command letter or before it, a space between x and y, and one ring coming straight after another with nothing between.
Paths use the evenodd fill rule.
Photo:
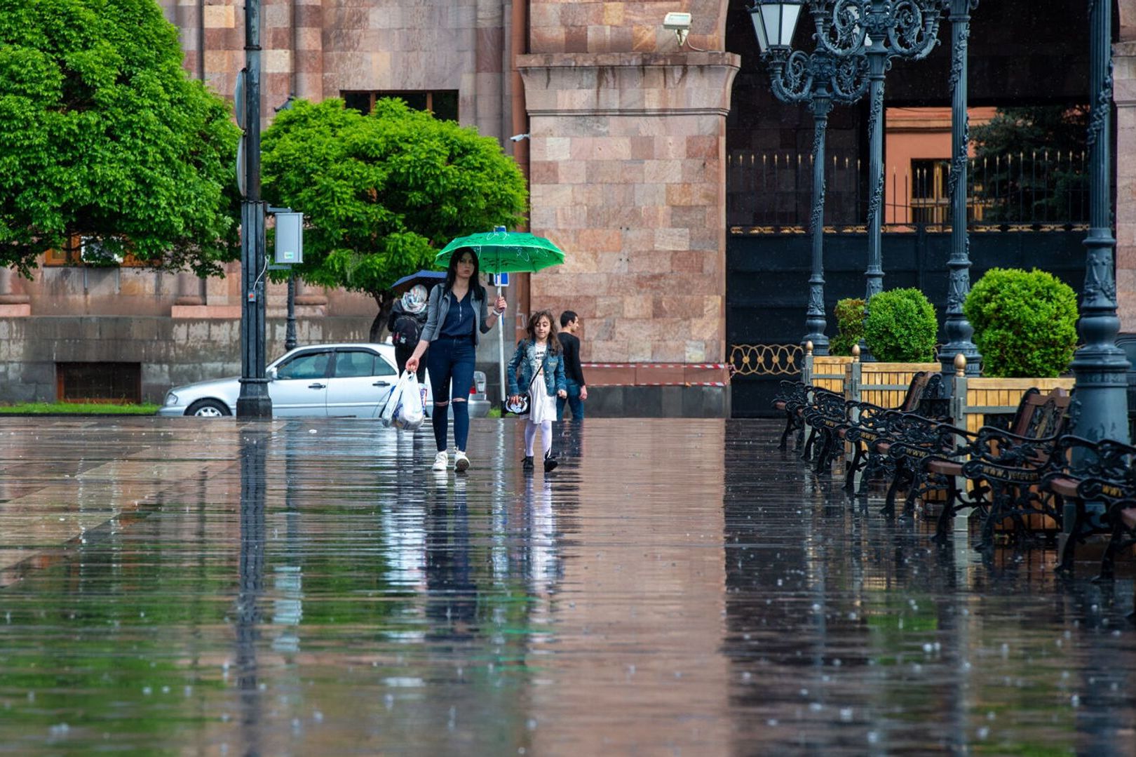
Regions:
<instances>
[{"instance_id":1,"label":"nearest black iron bench, cut off by the right edge","mask_svg":"<svg viewBox=\"0 0 1136 757\"><path fill-rule=\"evenodd\" d=\"M1120 550L1136 544L1136 447L1113 439L1091 441L1066 434L1053 452L1042 486L1063 508L1061 571L1071 572L1076 544L1089 535L1109 534L1101 558L1101 580L1111 580ZM1071 522L1070 522L1071 519Z\"/></svg>"}]
</instances>

